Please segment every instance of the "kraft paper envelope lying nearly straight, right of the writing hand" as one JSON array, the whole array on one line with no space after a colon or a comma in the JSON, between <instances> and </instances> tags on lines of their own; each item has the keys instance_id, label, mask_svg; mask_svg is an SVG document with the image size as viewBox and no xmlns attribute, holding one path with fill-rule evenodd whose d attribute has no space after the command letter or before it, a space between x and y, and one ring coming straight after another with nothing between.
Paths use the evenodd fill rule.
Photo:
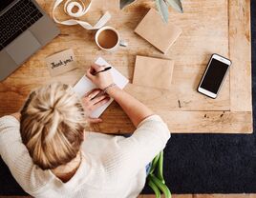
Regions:
<instances>
[{"instance_id":1,"label":"kraft paper envelope lying nearly straight, right of the writing hand","mask_svg":"<svg viewBox=\"0 0 256 198\"><path fill-rule=\"evenodd\" d=\"M170 89L174 61L137 56L133 84L157 89Z\"/></svg>"}]
</instances>

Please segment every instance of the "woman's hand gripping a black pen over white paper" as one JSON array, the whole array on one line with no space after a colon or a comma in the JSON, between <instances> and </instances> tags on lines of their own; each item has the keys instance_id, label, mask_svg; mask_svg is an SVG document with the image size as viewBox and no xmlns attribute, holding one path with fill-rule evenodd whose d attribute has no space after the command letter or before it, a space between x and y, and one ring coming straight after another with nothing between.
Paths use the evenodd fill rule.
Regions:
<instances>
[{"instance_id":1,"label":"woman's hand gripping a black pen over white paper","mask_svg":"<svg viewBox=\"0 0 256 198\"><path fill-rule=\"evenodd\" d=\"M110 70L106 70L104 72L97 73L93 75L92 73L100 71L104 69L104 67L98 66L96 64L92 65L90 69L87 69L86 76L96 85L99 89L105 89L109 85L113 84L113 78Z\"/></svg>"}]
</instances>

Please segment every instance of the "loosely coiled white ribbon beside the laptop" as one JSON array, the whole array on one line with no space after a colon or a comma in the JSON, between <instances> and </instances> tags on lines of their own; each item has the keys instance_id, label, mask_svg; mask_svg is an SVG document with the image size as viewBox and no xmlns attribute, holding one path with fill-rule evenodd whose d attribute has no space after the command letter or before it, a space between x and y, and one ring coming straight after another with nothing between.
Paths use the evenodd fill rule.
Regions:
<instances>
[{"instance_id":1,"label":"loosely coiled white ribbon beside the laptop","mask_svg":"<svg viewBox=\"0 0 256 198\"><path fill-rule=\"evenodd\" d=\"M65 13L67 13L69 16L76 17L76 18L83 16L84 14L86 14L88 12L88 10L90 10L91 5L92 5L91 0L86 0L86 1L89 2L88 6L85 6L84 0L77 0L77 1L67 0L66 3L64 4ZM53 20L58 24L62 24L62 25L66 25L66 26L74 26L74 25L78 24L86 30L97 30L97 29L100 29L101 27L103 27L111 18L111 14L108 11L106 11L104 13L104 15L101 16L101 18L97 21L95 26L92 26L91 24L89 24L86 21L75 20L75 19L59 21L56 19L55 15L54 15L54 11L62 2L63 2L63 0L56 0L53 5ZM75 7L78 10L76 12L73 12Z\"/></svg>"}]
</instances>

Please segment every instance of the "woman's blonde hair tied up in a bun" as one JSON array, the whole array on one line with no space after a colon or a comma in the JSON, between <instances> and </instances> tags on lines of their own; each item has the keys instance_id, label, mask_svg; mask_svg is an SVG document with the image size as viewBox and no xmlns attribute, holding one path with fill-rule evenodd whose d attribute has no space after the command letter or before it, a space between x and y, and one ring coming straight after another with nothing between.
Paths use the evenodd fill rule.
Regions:
<instances>
[{"instance_id":1,"label":"woman's blonde hair tied up in a bun","mask_svg":"<svg viewBox=\"0 0 256 198\"><path fill-rule=\"evenodd\" d=\"M32 91L21 110L20 126L33 163L52 169L75 158L83 141L86 115L74 90L54 83Z\"/></svg>"}]
</instances>

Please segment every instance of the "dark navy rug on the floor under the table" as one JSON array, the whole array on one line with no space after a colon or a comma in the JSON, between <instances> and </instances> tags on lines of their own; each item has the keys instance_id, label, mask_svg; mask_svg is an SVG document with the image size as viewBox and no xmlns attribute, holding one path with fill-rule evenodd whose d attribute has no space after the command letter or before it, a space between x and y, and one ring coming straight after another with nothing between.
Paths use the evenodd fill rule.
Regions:
<instances>
[{"instance_id":1,"label":"dark navy rug on the floor under the table","mask_svg":"<svg viewBox=\"0 0 256 198\"><path fill-rule=\"evenodd\" d=\"M252 66L256 61L256 1L251 1ZM255 47L254 47L255 46ZM253 110L256 69L252 67ZM255 112L255 111L254 111ZM256 129L254 116L254 129ZM256 134L173 134L164 150L164 177L173 193L255 193ZM143 193L152 193L145 187ZM0 195L24 195L0 160Z\"/></svg>"}]
</instances>

